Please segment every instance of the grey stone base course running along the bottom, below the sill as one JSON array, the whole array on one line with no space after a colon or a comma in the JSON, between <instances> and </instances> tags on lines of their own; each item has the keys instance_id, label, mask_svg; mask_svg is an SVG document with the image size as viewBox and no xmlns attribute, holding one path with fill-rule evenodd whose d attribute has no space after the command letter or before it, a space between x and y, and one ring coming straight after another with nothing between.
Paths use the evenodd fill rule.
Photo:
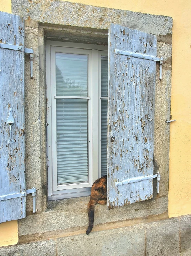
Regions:
<instances>
[{"instance_id":1,"label":"grey stone base course running along the bottom, below the sill","mask_svg":"<svg viewBox=\"0 0 191 256\"><path fill-rule=\"evenodd\" d=\"M190 256L191 215L0 248L0 256Z\"/></svg>"}]
</instances>

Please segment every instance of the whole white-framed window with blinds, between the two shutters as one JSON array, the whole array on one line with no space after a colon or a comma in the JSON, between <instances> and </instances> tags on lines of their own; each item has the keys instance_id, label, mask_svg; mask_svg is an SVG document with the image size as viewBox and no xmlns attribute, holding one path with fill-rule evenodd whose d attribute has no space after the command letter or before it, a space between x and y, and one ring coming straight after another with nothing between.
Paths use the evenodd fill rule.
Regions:
<instances>
[{"instance_id":1,"label":"whole white-framed window with blinds, between the two shutters","mask_svg":"<svg viewBox=\"0 0 191 256\"><path fill-rule=\"evenodd\" d=\"M50 44L46 46L49 195L84 195L106 175L108 49Z\"/></svg>"}]
</instances>

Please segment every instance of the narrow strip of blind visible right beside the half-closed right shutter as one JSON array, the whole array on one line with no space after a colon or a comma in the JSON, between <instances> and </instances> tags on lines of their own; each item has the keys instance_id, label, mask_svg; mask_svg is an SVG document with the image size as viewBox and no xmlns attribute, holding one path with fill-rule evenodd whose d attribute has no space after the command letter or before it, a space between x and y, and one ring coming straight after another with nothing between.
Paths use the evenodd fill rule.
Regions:
<instances>
[{"instance_id":1,"label":"narrow strip of blind visible right beside the half-closed right shutter","mask_svg":"<svg viewBox=\"0 0 191 256\"><path fill-rule=\"evenodd\" d=\"M101 58L101 97L108 96L108 58ZM107 99L101 99L101 176L107 164Z\"/></svg>"}]
</instances>

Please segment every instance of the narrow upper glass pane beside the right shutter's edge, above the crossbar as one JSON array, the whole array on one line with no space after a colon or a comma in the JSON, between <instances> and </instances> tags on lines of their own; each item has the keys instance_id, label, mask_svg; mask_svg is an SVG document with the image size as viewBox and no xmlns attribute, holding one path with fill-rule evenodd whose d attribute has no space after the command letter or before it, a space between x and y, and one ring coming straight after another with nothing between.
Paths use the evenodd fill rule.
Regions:
<instances>
[{"instance_id":1,"label":"narrow upper glass pane beside the right shutter's edge, above the crossbar","mask_svg":"<svg viewBox=\"0 0 191 256\"><path fill-rule=\"evenodd\" d=\"M101 97L108 96L108 58L101 57Z\"/></svg>"}]
</instances>

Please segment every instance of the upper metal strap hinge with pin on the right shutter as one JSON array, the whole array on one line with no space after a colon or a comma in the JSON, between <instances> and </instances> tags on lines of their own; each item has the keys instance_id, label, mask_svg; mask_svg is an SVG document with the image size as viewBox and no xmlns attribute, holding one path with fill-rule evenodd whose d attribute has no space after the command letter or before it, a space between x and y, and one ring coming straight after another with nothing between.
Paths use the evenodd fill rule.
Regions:
<instances>
[{"instance_id":1,"label":"upper metal strap hinge with pin on the right shutter","mask_svg":"<svg viewBox=\"0 0 191 256\"><path fill-rule=\"evenodd\" d=\"M121 51L121 50L118 50L118 49L115 49L115 54L121 54L121 55L126 55L126 56L130 56L130 57L139 58L139 59L145 59L145 60L159 61L159 63L160 63L159 80L162 79L162 64L163 64L163 57L162 56L160 56L160 58L159 58L159 57L156 57L156 56L150 56L150 55L136 53L136 52Z\"/></svg>"}]
</instances>

